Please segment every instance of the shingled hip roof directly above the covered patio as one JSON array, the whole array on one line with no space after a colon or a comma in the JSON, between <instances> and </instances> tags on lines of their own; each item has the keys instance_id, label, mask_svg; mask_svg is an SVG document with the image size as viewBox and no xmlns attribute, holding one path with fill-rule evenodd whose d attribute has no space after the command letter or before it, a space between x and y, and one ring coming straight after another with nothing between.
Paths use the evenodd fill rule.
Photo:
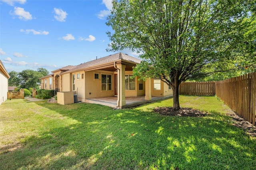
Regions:
<instances>
[{"instance_id":1,"label":"shingled hip roof directly above the covered patio","mask_svg":"<svg viewBox=\"0 0 256 170\"><path fill-rule=\"evenodd\" d=\"M109 63L109 62L118 61L118 60L126 60L126 61L130 61L130 62L133 62L133 63L140 63L142 61L142 60L140 60L138 58L135 58L135 57L132 57L128 54L115 53L115 54L112 54L112 55L108 55L106 57L102 57L102 58L99 58L99 59L94 59L92 61L88 61L86 63L82 63L82 64L77 65L76 67L66 71L65 73L70 73L70 72L74 72L74 71L77 71L77 70L82 70L82 69L85 69L85 68L88 68L88 67L101 65L101 64L104 64L104 63Z\"/></svg>"}]
</instances>

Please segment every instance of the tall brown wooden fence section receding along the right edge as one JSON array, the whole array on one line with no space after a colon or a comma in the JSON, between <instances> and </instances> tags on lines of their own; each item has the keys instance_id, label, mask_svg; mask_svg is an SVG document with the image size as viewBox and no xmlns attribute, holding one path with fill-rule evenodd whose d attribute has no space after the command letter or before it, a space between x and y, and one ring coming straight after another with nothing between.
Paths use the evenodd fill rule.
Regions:
<instances>
[{"instance_id":1,"label":"tall brown wooden fence section receding along the right edge","mask_svg":"<svg viewBox=\"0 0 256 170\"><path fill-rule=\"evenodd\" d=\"M256 72L216 81L216 95L237 115L256 125Z\"/></svg>"}]
</instances>

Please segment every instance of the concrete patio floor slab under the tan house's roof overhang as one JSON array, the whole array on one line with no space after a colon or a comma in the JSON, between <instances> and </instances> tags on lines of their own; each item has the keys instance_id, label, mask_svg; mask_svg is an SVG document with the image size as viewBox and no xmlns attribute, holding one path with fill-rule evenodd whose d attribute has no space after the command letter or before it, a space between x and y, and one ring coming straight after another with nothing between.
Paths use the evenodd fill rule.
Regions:
<instances>
[{"instance_id":1,"label":"concrete patio floor slab under the tan house's roof overhang","mask_svg":"<svg viewBox=\"0 0 256 170\"><path fill-rule=\"evenodd\" d=\"M122 108L127 108L127 107L132 107L136 105L141 105L143 103L150 103L153 101L161 100L161 99L166 99L166 98L171 98L172 95L165 96L165 97L156 97L152 96L152 99L145 100L145 96L138 96L138 97L125 97L126 105ZM86 103L94 103L94 104L100 104L100 105L105 105L113 108L118 108L117 105L117 96L112 96L112 97L96 97L96 98L90 98L86 99Z\"/></svg>"}]
</instances>

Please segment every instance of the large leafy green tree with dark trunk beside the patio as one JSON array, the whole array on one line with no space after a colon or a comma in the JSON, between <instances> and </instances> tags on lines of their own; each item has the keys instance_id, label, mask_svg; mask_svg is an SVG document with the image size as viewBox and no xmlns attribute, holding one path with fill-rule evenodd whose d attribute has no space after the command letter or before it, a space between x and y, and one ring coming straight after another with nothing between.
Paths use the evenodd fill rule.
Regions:
<instances>
[{"instance_id":1,"label":"large leafy green tree with dark trunk beside the patio","mask_svg":"<svg viewBox=\"0 0 256 170\"><path fill-rule=\"evenodd\" d=\"M180 109L182 81L244 67L246 60L255 62L255 55L245 55L252 44L244 41L244 19L254 15L248 8L255 0L112 3L106 23L113 30L107 32L112 41L108 50L141 52L143 61L134 68L134 75L160 78L172 87L174 109Z\"/></svg>"}]
</instances>

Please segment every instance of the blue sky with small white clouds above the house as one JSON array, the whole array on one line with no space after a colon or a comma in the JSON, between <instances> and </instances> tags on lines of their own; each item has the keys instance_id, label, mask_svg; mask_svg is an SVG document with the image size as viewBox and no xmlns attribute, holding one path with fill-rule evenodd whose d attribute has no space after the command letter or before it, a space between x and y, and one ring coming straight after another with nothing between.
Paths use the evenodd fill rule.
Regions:
<instances>
[{"instance_id":1,"label":"blue sky with small white clouds above the house","mask_svg":"<svg viewBox=\"0 0 256 170\"><path fill-rule=\"evenodd\" d=\"M113 54L111 9L111 0L0 0L0 59L8 72L53 71Z\"/></svg>"}]
</instances>

